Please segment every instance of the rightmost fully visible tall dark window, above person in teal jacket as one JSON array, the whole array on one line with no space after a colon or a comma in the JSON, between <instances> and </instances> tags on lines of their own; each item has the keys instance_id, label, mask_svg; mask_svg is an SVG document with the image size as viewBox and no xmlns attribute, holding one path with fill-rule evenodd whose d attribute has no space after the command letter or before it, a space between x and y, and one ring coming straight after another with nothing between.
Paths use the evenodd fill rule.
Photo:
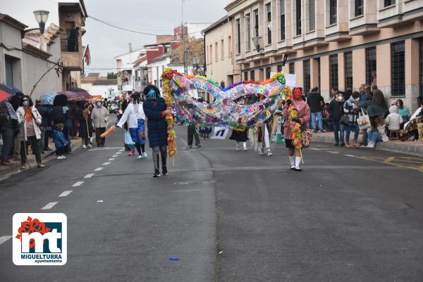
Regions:
<instances>
[{"instance_id":1,"label":"rightmost fully visible tall dark window, above person in teal jacket","mask_svg":"<svg viewBox=\"0 0 423 282\"><path fill-rule=\"evenodd\" d=\"M405 95L405 43L391 44L391 94Z\"/></svg>"}]
</instances>

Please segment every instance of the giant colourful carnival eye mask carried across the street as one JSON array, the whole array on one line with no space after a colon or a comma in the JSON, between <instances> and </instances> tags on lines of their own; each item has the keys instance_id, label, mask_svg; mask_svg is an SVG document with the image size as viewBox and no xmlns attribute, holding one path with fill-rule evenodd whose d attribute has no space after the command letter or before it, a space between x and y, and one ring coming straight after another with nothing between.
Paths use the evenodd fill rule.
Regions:
<instances>
[{"instance_id":1,"label":"giant colourful carnival eye mask carried across the street","mask_svg":"<svg viewBox=\"0 0 423 282\"><path fill-rule=\"evenodd\" d=\"M282 73L277 73L265 82L239 82L226 89L206 77L185 76L170 68L164 70L162 79L166 105L173 109L179 120L190 124L235 129L263 124L274 115L278 102L281 99L286 100L290 93ZM189 91L194 89L211 94L214 96L214 102L203 103L195 100L189 94ZM240 105L236 102L237 99L248 96L260 98L250 105ZM169 130L173 130L173 124L168 123L168 132ZM172 138L173 141L174 139ZM168 145L172 144L168 142Z\"/></svg>"}]
</instances>

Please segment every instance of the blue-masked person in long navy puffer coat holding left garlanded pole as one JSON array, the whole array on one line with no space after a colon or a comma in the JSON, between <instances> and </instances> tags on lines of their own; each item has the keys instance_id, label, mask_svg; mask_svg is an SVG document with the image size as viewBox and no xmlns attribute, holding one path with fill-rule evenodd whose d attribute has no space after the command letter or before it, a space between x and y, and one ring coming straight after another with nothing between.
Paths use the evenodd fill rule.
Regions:
<instances>
[{"instance_id":1,"label":"blue-masked person in long navy puffer coat holding left garlanded pole","mask_svg":"<svg viewBox=\"0 0 423 282\"><path fill-rule=\"evenodd\" d=\"M161 155L161 172L167 175L166 157L167 157L167 124L165 117L172 113L171 109L166 107L166 101L160 97L160 91L154 85L148 85L144 89L146 98L142 105L145 116L147 117L148 142L152 148L154 175L160 177L159 155Z\"/></svg>"}]
</instances>

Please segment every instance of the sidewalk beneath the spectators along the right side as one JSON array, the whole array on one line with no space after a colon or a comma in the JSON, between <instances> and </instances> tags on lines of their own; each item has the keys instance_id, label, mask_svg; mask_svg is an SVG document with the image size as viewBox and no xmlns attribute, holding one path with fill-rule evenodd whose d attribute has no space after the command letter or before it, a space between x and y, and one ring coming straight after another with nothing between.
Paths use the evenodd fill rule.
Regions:
<instances>
[{"instance_id":1,"label":"sidewalk beneath the spectators along the right side","mask_svg":"<svg viewBox=\"0 0 423 282\"><path fill-rule=\"evenodd\" d=\"M350 138L353 137L351 134ZM358 137L358 141L360 142L362 139L362 135ZM324 143L335 143L335 137L333 136L333 132L326 132L326 133L314 133L312 137L312 141L315 142L324 142ZM350 145L353 145L354 141L350 139ZM420 141L388 141L388 142L377 142L376 148L379 150L387 150L390 152L396 153L404 153L409 155L418 155L420 157L423 156L423 142Z\"/></svg>"}]
</instances>

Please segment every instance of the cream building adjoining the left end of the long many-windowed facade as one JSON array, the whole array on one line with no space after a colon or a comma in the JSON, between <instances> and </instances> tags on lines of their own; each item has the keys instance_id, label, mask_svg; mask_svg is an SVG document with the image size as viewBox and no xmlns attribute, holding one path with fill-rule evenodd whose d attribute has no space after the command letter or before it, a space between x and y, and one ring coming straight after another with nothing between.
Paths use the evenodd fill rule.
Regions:
<instances>
[{"instance_id":1,"label":"cream building adjoining the left end of the long many-windowed facade","mask_svg":"<svg viewBox=\"0 0 423 282\"><path fill-rule=\"evenodd\" d=\"M232 23L225 16L203 30L203 33L207 77L219 84L223 82L225 86L233 84L234 73L239 73L240 66L234 64Z\"/></svg>"}]
</instances>

